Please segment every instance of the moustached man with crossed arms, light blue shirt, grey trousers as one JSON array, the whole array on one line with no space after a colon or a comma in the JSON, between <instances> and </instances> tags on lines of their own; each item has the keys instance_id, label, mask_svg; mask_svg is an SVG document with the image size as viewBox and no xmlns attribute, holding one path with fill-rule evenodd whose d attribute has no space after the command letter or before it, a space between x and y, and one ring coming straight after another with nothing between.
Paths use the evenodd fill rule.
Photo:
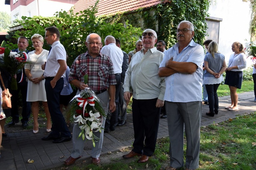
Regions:
<instances>
[{"instance_id":1,"label":"moustached man with crossed arms, light blue shirt, grey trousers","mask_svg":"<svg viewBox=\"0 0 256 170\"><path fill-rule=\"evenodd\" d=\"M170 138L170 167L184 166L184 124L187 139L186 170L199 166L200 122L202 115L202 84L204 50L196 44L194 25L181 21L177 28L177 40L167 50L159 68L159 76L166 77L167 123Z\"/></svg>"}]
</instances>

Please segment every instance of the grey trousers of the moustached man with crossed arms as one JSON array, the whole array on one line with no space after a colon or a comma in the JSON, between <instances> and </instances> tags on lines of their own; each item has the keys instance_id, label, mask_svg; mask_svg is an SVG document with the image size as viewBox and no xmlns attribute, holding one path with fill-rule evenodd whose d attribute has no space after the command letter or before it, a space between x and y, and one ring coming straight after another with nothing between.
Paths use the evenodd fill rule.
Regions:
<instances>
[{"instance_id":1,"label":"grey trousers of the moustached man with crossed arms","mask_svg":"<svg viewBox=\"0 0 256 170\"><path fill-rule=\"evenodd\" d=\"M185 125L186 168L197 169L199 167L202 101L187 103L166 101L166 113L170 138L170 166L173 168L184 166L183 137Z\"/></svg>"}]
</instances>

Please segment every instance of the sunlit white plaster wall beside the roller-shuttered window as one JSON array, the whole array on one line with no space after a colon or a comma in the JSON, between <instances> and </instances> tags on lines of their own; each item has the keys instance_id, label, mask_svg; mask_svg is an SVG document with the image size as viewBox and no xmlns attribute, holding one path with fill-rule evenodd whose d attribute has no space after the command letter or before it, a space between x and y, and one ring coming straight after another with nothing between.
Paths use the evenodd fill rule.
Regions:
<instances>
[{"instance_id":1,"label":"sunlit white plaster wall beside the roller-shuttered window","mask_svg":"<svg viewBox=\"0 0 256 170\"><path fill-rule=\"evenodd\" d=\"M248 2L242 0L211 0L210 16L223 19L220 22L219 51L224 54L226 61L233 54L231 50L233 42L239 41L245 44L245 39L250 40L250 5L250 0Z\"/></svg>"}]
</instances>

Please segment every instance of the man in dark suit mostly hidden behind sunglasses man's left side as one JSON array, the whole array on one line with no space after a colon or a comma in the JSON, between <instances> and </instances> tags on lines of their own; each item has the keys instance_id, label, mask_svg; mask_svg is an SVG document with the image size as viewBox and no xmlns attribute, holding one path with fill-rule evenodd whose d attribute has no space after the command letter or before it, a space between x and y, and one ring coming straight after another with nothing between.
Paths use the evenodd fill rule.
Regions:
<instances>
[{"instance_id":1,"label":"man in dark suit mostly hidden behind sunglasses man's left side","mask_svg":"<svg viewBox=\"0 0 256 170\"><path fill-rule=\"evenodd\" d=\"M116 46L121 48L120 40L116 39ZM117 126L123 126L126 124L126 101L123 98L123 83L125 78L125 72L128 69L129 56L126 52L123 52L123 64L122 64L122 73L121 73L121 89L119 92L119 102L118 102L118 124Z\"/></svg>"}]
</instances>

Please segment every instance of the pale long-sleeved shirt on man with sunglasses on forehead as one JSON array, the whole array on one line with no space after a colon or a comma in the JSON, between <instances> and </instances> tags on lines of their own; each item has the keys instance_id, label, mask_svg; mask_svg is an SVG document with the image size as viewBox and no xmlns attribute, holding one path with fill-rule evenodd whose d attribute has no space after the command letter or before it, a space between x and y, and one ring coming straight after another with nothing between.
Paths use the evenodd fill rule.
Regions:
<instances>
[{"instance_id":1,"label":"pale long-sleeved shirt on man with sunglasses on forehead","mask_svg":"<svg viewBox=\"0 0 256 170\"><path fill-rule=\"evenodd\" d=\"M143 49L133 55L125 74L124 92L133 89L135 99L163 100L165 92L165 78L160 78L158 69L164 54L156 47L148 49L144 54Z\"/></svg>"}]
</instances>

